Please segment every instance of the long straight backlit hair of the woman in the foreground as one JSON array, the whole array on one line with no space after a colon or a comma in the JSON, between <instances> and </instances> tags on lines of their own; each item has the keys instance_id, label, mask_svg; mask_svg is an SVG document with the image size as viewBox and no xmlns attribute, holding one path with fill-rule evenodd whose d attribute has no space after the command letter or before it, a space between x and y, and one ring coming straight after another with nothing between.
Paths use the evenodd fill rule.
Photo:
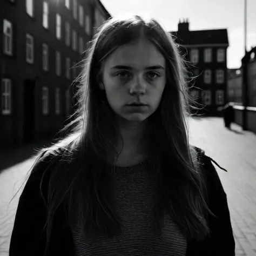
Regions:
<instances>
[{"instance_id":1,"label":"long straight backlit hair of the woman in the foreground","mask_svg":"<svg viewBox=\"0 0 256 256\"><path fill-rule=\"evenodd\" d=\"M85 237L92 233L111 237L122 232L110 189L112 165L106 164L107 152L114 150L111 139L118 130L105 92L98 84L100 68L107 56L140 37L147 38L166 60L163 97L149 117L150 166L157 174L159 185L156 223L160 227L163 214L168 213L187 239L203 239L210 233L205 181L196 151L188 142L186 118L191 99L186 62L172 35L155 19L132 16L110 18L97 30L76 80L78 106L72 122L62 130L65 138L38 154L34 170L47 162L45 173L50 173L45 198L48 243L60 205L65 206L71 228L76 214L82 218ZM114 165L114 159L111 161Z\"/></svg>"}]
</instances>

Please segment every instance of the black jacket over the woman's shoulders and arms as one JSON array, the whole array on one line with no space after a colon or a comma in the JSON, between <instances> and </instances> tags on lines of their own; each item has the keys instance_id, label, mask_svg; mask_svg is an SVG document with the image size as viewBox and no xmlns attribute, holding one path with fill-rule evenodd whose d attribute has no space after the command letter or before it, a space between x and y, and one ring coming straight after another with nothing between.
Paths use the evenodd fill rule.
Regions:
<instances>
[{"instance_id":1,"label":"black jacket over the woman's shoulders and arms","mask_svg":"<svg viewBox=\"0 0 256 256\"><path fill-rule=\"evenodd\" d=\"M190 240L186 256L233 256L235 242L231 227L227 197L212 159L199 149L200 159L207 174L208 204L218 218L208 217L211 237L203 241ZM215 162L214 162L215 163ZM14 229L11 235L9 256L43 256L45 251L46 207L40 193L43 170L30 174L19 199ZM42 190L44 191L44 184ZM53 221L50 249L47 256L75 255L72 232L61 205Z\"/></svg>"}]
</instances>

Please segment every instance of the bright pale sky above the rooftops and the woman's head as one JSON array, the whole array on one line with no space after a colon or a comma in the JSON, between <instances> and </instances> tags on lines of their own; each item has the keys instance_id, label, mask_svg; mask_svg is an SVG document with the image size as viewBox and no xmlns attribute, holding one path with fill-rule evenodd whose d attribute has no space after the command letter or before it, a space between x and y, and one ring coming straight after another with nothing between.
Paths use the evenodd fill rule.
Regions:
<instances>
[{"instance_id":1,"label":"bright pale sky above the rooftops and the woman's head","mask_svg":"<svg viewBox=\"0 0 256 256\"><path fill-rule=\"evenodd\" d=\"M101 0L111 16L149 15L167 31L177 31L179 19L190 30L227 29L227 67L240 68L245 54L245 0ZM247 0L247 51L256 46L256 0Z\"/></svg>"}]
</instances>

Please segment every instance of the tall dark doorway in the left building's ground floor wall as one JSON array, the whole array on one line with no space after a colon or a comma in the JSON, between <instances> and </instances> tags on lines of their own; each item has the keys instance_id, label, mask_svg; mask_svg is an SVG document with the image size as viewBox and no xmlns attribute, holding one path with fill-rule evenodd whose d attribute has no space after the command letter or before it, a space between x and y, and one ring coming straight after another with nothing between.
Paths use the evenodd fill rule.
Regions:
<instances>
[{"instance_id":1,"label":"tall dark doorway in the left building's ground floor wall","mask_svg":"<svg viewBox=\"0 0 256 256\"><path fill-rule=\"evenodd\" d=\"M36 82L24 82L24 142L31 143L35 139L35 88Z\"/></svg>"}]
</instances>

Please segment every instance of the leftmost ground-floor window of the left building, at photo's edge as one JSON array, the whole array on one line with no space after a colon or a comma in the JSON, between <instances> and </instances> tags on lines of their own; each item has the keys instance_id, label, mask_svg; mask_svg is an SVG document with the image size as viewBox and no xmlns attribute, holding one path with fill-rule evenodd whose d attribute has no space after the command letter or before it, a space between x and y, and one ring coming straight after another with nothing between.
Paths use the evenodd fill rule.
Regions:
<instances>
[{"instance_id":1,"label":"leftmost ground-floor window of the left building, at photo's edge","mask_svg":"<svg viewBox=\"0 0 256 256\"><path fill-rule=\"evenodd\" d=\"M2 114L11 113L11 79L2 79Z\"/></svg>"}]
</instances>

